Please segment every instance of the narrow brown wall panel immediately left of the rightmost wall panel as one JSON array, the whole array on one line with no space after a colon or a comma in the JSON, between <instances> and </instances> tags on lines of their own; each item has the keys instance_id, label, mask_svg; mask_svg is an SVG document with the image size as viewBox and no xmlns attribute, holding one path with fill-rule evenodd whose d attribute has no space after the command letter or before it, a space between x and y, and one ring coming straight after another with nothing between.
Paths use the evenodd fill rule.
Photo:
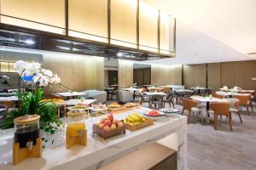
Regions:
<instances>
[{"instance_id":1,"label":"narrow brown wall panel immediately left of the rightmost wall panel","mask_svg":"<svg viewBox=\"0 0 256 170\"><path fill-rule=\"evenodd\" d=\"M218 90L221 86L220 63L208 64L208 88Z\"/></svg>"}]
</instances>

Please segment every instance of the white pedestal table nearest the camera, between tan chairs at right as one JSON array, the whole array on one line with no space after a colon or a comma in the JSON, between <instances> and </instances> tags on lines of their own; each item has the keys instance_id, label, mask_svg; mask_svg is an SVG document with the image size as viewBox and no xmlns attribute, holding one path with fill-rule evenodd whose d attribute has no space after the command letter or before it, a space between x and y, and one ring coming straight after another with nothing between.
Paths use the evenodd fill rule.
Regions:
<instances>
[{"instance_id":1,"label":"white pedestal table nearest the camera, between tan chairs at right","mask_svg":"<svg viewBox=\"0 0 256 170\"><path fill-rule=\"evenodd\" d=\"M200 102L200 103L206 103L207 104L207 123L209 122L209 111L210 111L210 104L212 103L224 103L224 102L229 102L227 99L219 99L215 97L203 97L199 95L193 95L190 97L191 99Z\"/></svg>"}]
</instances>

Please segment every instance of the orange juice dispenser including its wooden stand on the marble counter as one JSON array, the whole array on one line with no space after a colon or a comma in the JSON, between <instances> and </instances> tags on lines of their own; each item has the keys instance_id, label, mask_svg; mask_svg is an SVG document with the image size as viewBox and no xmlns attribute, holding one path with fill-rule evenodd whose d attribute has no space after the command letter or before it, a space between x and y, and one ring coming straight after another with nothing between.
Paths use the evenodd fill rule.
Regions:
<instances>
[{"instance_id":1,"label":"orange juice dispenser including its wooden stand on the marble counter","mask_svg":"<svg viewBox=\"0 0 256 170\"><path fill-rule=\"evenodd\" d=\"M85 111L67 112L66 148L74 144L86 146L87 130L85 126Z\"/></svg>"}]
</instances>

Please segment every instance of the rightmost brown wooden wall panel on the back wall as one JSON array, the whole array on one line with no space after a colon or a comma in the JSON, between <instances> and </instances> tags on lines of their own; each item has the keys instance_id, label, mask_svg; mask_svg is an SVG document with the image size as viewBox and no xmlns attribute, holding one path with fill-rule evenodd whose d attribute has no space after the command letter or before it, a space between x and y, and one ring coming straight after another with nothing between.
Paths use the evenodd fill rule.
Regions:
<instances>
[{"instance_id":1,"label":"rightmost brown wooden wall panel on the back wall","mask_svg":"<svg viewBox=\"0 0 256 170\"><path fill-rule=\"evenodd\" d=\"M256 77L256 61L239 61L221 63L221 87L234 86L243 89L256 90L256 81L252 78Z\"/></svg>"}]
</instances>

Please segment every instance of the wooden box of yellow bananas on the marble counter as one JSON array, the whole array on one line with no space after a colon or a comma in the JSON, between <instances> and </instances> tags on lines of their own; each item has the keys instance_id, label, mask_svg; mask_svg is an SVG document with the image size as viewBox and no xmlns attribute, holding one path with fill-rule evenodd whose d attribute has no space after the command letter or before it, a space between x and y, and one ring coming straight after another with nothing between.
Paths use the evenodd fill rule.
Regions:
<instances>
[{"instance_id":1,"label":"wooden box of yellow bananas on the marble counter","mask_svg":"<svg viewBox=\"0 0 256 170\"><path fill-rule=\"evenodd\" d=\"M140 116L137 113L133 113L129 116L126 116L124 119L125 128L135 131L139 128L148 127L149 125L153 125L154 122L152 119Z\"/></svg>"}]
</instances>

